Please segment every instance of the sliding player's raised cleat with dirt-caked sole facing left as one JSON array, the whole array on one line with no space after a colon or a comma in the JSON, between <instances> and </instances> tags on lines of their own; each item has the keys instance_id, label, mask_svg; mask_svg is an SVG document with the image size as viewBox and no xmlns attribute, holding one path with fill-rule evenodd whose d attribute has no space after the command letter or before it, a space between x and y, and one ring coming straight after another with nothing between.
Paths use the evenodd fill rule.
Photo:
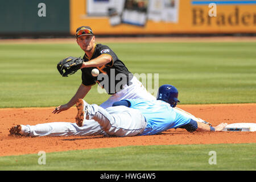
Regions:
<instances>
[{"instance_id":1,"label":"sliding player's raised cleat with dirt-caked sole facing left","mask_svg":"<svg viewBox=\"0 0 256 182\"><path fill-rule=\"evenodd\" d=\"M77 108L77 115L76 115L76 125L82 126L84 123L84 117L88 113L87 105L84 101L80 98L76 101L76 108Z\"/></svg>"}]
</instances>

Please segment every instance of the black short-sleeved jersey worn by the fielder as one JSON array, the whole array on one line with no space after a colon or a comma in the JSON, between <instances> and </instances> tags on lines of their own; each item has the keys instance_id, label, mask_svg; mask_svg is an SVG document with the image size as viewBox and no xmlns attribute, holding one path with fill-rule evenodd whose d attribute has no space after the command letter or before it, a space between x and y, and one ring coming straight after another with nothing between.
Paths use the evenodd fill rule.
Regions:
<instances>
[{"instance_id":1,"label":"black short-sleeved jersey worn by the fielder","mask_svg":"<svg viewBox=\"0 0 256 182\"><path fill-rule=\"evenodd\" d=\"M102 88L106 90L108 94L114 94L118 92L125 84L130 85L129 81L131 78L133 78L133 74L129 72L125 64L123 64L123 62L118 59L114 51L112 51L112 49L110 49L108 46L96 44L96 46L94 46L92 57L87 57L85 54L83 59L86 62L91 59L95 59L102 54L110 55L112 57L112 61L102 65L101 67L82 68L82 84L85 86L90 86L98 83ZM93 77L91 72L94 68L97 68L100 73L103 74L100 74L97 77Z\"/></svg>"}]
</instances>

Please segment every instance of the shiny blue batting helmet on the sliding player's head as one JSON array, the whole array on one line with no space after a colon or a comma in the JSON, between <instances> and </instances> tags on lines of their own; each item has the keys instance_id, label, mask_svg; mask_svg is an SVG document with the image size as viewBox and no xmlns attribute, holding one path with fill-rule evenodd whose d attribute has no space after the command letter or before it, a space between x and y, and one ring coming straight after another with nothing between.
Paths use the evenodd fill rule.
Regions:
<instances>
[{"instance_id":1,"label":"shiny blue batting helmet on the sliding player's head","mask_svg":"<svg viewBox=\"0 0 256 182\"><path fill-rule=\"evenodd\" d=\"M158 89L158 95L156 100L162 100L169 103L172 107L177 105L177 102L180 102L177 99L178 91L175 86L172 85L162 85Z\"/></svg>"}]
</instances>

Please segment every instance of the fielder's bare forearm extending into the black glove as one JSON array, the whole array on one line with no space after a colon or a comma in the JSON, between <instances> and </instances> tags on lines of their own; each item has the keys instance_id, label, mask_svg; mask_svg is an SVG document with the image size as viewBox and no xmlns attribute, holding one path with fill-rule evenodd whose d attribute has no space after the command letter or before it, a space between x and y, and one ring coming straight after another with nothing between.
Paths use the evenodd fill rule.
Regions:
<instances>
[{"instance_id":1,"label":"fielder's bare forearm extending into the black glove","mask_svg":"<svg viewBox=\"0 0 256 182\"><path fill-rule=\"evenodd\" d=\"M105 65L112 61L112 57L110 55L104 54L98 56L96 59L92 59L89 61L86 61L82 64L82 68L88 68L88 67L101 67L102 65Z\"/></svg>"}]
</instances>

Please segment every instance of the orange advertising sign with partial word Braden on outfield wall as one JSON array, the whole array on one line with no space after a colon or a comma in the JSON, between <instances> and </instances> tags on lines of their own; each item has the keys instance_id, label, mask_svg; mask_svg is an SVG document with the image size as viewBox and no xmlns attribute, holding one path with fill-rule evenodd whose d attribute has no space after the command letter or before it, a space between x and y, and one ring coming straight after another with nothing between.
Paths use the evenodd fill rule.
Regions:
<instances>
[{"instance_id":1,"label":"orange advertising sign with partial word Braden on outfield wall","mask_svg":"<svg viewBox=\"0 0 256 182\"><path fill-rule=\"evenodd\" d=\"M256 33L256 1L71 0L71 34Z\"/></svg>"}]
</instances>

